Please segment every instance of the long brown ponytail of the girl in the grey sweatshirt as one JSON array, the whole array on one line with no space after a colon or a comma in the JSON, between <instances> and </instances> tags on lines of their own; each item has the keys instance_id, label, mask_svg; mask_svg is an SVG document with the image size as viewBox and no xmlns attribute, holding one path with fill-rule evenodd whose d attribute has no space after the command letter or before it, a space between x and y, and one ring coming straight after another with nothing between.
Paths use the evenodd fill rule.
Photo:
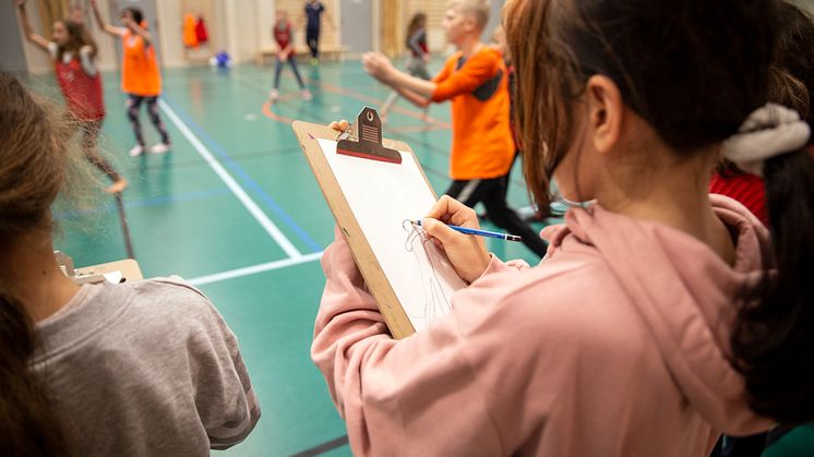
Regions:
<instances>
[{"instance_id":1,"label":"long brown ponytail of the girl in the grey sweatshirt","mask_svg":"<svg viewBox=\"0 0 814 457\"><path fill-rule=\"evenodd\" d=\"M0 287L0 449L12 456L68 455L45 385L32 371L36 347L31 318Z\"/></svg>"}]
</instances>

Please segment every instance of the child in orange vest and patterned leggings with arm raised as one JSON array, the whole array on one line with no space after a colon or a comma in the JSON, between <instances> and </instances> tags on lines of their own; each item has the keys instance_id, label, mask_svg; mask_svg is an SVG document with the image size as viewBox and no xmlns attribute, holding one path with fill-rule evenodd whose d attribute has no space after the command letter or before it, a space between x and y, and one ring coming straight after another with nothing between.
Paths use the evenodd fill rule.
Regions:
<instances>
[{"instance_id":1,"label":"child in orange vest and patterned leggings with arm raised","mask_svg":"<svg viewBox=\"0 0 814 457\"><path fill-rule=\"evenodd\" d=\"M121 89L128 96L128 119L135 135L135 146L130 149L130 157L137 157L146 151L142 134L139 110L142 103L147 105L147 115L158 131L161 142L149 148L153 154L170 149L169 133L158 116L158 96L161 94L161 74L158 70L152 36L146 29L144 16L137 8L125 8L121 11L123 27L116 27L105 22L99 12L97 0L91 0L94 16L99 28L120 38L122 45Z\"/></svg>"}]
</instances>

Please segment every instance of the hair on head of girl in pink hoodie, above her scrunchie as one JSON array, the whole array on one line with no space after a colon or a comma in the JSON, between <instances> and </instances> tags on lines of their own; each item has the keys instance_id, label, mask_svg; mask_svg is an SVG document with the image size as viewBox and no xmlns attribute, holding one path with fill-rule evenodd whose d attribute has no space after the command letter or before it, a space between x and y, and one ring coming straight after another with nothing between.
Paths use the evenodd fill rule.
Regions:
<instances>
[{"instance_id":1,"label":"hair on head of girl in pink hoodie, above her scrunchie","mask_svg":"<svg viewBox=\"0 0 814 457\"><path fill-rule=\"evenodd\" d=\"M661 141L690 153L734 133L766 103L775 48L770 0L516 0L506 40L517 71L524 170L547 213L554 169L574 136L574 101L594 74Z\"/></svg>"}]
</instances>

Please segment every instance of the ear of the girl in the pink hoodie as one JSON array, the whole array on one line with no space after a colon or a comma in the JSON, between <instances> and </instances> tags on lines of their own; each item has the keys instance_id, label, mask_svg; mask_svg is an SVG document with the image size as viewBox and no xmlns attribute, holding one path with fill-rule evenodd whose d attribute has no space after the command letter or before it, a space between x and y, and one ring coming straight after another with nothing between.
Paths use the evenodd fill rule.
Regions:
<instances>
[{"instance_id":1,"label":"ear of the girl in the pink hoodie","mask_svg":"<svg viewBox=\"0 0 814 457\"><path fill-rule=\"evenodd\" d=\"M608 76L596 74L586 85L590 130L594 147L600 154L610 152L619 143L624 104L619 86Z\"/></svg>"}]
</instances>

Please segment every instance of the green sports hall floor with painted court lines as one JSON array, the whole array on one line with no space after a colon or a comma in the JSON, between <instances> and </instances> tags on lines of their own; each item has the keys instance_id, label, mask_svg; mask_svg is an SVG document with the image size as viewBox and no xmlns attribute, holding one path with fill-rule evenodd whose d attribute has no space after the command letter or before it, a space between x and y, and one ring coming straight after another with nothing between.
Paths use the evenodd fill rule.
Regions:
<instances>
[{"instance_id":1,"label":"green sports hall floor with painted court lines","mask_svg":"<svg viewBox=\"0 0 814 457\"><path fill-rule=\"evenodd\" d=\"M435 60L431 70L440 65ZM309 356L324 285L319 257L333 239L334 221L289 122L351 120L366 105L379 107L387 91L358 61L301 64L300 70L313 100L300 99L286 70L283 96L274 106L266 101L273 81L268 65L165 70L160 107L172 152L139 158L127 155L134 140L119 74L104 74L108 115L101 146L130 181L123 202L142 272L179 275L212 299L240 340L260 398L262 418L254 432L215 454L350 455L345 425ZM60 98L51 75L26 81ZM440 194L448 184L450 107L433 106L429 113L435 122L426 124L420 110L399 100L384 135L412 146ZM147 144L157 143L145 112L142 128ZM528 206L519 168L508 192L514 207ZM99 176L97 187L103 185L108 182ZM59 203L55 215L55 249L77 266L127 256L112 197L80 195ZM495 241L489 249L502 258L536 261L519 243Z\"/></svg>"}]
</instances>

